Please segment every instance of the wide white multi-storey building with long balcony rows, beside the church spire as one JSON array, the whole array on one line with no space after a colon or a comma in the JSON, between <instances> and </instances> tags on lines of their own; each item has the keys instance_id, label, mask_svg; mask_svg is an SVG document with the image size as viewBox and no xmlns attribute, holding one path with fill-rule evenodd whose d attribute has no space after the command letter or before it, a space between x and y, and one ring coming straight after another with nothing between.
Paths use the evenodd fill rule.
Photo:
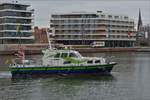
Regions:
<instances>
[{"instance_id":1,"label":"wide white multi-storey building with long balcony rows, beside the church spire","mask_svg":"<svg viewBox=\"0 0 150 100\"><path fill-rule=\"evenodd\" d=\"M64 45L103 42L106 47L131 47L136 41L133 19L102 11L52 14L50 27L55 30L55 42Z\"/></svg>"}]
</instances>

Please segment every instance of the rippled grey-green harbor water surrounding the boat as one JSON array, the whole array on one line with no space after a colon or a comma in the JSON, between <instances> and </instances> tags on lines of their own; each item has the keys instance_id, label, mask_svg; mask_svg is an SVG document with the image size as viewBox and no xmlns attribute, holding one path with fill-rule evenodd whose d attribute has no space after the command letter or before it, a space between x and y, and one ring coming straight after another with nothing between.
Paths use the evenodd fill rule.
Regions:
<instances>
[{"instance_id":1,"label":"rippled grey-green harbor water surrounding the boat","mask_svg":"<svg viewBox=\"0 0 150 100\"><path fill-rule=\"evenodd\" d=\"M0 55L0 100L150 100L150 53L110 52L84 56L111 57L111 75L50 76L12 79L14 56ZM41 63L42 55L27 55Z\"/></svg>"}]
</instances>

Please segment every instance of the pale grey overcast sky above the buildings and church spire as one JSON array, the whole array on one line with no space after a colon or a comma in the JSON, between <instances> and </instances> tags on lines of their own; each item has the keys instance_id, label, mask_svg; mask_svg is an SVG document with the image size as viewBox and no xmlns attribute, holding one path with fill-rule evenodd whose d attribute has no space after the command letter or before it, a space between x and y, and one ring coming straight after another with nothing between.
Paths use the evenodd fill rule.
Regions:
<instances>
[{"instance_id":1,"label":"pale grey overcast sky above the buildings and church spire","mask_svg":"<svg viewBox=\"0 0 150 100\"><path fill-rule=\"evenodd\" d=\"M143 24L150 23L150 0L18 0L35 9L34 25L48 27L50 15L55 12L101 10L106 13L127 15L137 23L139 8Z\"/></svg>"}]
</instances>

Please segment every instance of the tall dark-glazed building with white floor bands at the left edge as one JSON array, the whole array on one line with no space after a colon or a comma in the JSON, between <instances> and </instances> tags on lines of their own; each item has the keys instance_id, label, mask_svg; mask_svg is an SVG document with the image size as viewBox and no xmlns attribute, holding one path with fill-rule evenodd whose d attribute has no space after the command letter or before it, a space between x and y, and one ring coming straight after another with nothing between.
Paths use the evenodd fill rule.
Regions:
<instances>
[{"instance_id":1,"label":"tall dark-glazed building with white floor bands at the left edge","mask_svg":"<svg viewBox=\"0 0 150 100\"><path fill-rule=\"evenodd\" d=\"M33 9L18 1L0 3L0 44L32 43ZM17 32L18 27L18 32Z\"/></svg>"}]
</instances>

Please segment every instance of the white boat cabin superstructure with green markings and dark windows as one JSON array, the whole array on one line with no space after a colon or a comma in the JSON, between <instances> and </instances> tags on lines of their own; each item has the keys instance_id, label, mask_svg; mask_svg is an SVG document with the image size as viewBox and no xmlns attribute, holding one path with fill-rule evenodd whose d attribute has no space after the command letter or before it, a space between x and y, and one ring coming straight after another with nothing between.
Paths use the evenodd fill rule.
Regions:
<instances>
[{"instance_id":1,"label":"white boat cabin superstructure with green markings and dark windows","mask_svg":"<svg viewBox=\"0 0 150 100\"><path fill-rule=\"evenodd\" d=\"M44 66L88 66L106 64L103 57L83 57L75 50L45 50L42 58Z\"/></svg>"}]
</instances>

